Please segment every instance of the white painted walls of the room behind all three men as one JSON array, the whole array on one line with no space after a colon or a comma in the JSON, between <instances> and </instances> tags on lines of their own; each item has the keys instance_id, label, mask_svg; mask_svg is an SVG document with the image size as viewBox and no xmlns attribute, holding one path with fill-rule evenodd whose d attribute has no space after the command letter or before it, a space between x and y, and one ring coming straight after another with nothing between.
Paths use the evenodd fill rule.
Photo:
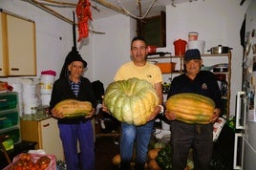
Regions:
<instances>
[{"instance_id":1,"label":"white painted walls of the room behind all three men","mask_svg":"<svg viewBox=\"0 0 256 170\"><path fill-rule=\"evenodd\" d=\"M240 29L250 0L241 7L240 0L204 0L166 7L166 48L158 51L174 53L173 41L187 39L187 33L199 32L205 40L205 51L222 44L232 50L231 115L235 94L242 84L242 47ZM28 17L36 23L37 74L52 69L59 74L64 58L73 46L72 26L31 4L18 0L1 0L0 8ZM73 18L70 10L59 10ZM130 41L136 34L135 21L118 14L93 21L93 28L105 34L91 33L79 50L88 61L85 76L101 80L105 88L113 81L117 68L130 60ZM62 40L59 39L62 37ZM79 47L79 44L77 44Z\"/></svg>"}]
</instances>

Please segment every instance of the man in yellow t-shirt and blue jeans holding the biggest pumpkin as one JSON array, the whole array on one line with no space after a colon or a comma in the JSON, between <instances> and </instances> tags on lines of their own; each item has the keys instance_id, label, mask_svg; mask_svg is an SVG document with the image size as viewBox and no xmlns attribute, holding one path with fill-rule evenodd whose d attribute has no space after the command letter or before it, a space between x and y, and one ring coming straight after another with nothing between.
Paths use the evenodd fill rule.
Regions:
<instances>
[{"instance_id":1,"label":"man in yellow t-shirt and blue jeans holding the biggest pumpkin","mask_svg":"<svg viewBox=\"0 0 256 170\"><path fill-rule=\"evenodd\" d=\"M161 106L162 76L158 66L146 61L147 45L143 38L135 37L132 40L130 54L132 61L123 64L118 69L114 78L115 81L126 80L132 77L147 80L155 87L160 98L160 106L155 108L153 116L148 118L148 122L146 124L135 126L127 123L121 123L120 169L130 170L130 161L133 156L133 148L136 142L135 169L143 170L147 159L148 145L153 132L154 118L163 111Z\"/></svg>"}]
</instances>

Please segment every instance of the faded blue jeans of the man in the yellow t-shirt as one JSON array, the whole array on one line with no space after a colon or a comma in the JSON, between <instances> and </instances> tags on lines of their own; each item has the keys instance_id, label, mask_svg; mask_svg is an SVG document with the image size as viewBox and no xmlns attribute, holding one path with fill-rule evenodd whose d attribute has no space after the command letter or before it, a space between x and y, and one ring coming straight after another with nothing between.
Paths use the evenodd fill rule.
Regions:
<instances>
[{"instance_id":1,"label":"faded blue jeans of the man in the yellow t-shirt","mask_svg":"<svg viewBox=\"0 0 256 170\"><path fill-rule=\"evenodd\" d=\"M153 132L154 121L149 121L145 125L135 126L121 123L120 156L121 170L129 170L133 157L134 144L136 142L135 169L143 170L147 160L148 145Z\"/></svg>"}]
</instances>

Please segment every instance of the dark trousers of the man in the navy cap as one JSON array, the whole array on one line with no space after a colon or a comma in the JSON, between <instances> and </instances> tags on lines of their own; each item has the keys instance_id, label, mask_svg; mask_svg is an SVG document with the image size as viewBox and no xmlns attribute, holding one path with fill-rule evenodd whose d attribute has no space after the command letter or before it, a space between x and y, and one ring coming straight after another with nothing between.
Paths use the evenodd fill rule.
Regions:
<instances>
[{"instance_id":1,"label":"dark trousers of the man in the navy cap","mask_svg":"<svg viewBox=\"0 0 256 170\"><path fill-rule=\"evenodd\" d=\"M189 149L193 149L194 170L208 170L213 150L213 125L171 122L172 170L183 170Z\"/></svg>"}]
</instances>

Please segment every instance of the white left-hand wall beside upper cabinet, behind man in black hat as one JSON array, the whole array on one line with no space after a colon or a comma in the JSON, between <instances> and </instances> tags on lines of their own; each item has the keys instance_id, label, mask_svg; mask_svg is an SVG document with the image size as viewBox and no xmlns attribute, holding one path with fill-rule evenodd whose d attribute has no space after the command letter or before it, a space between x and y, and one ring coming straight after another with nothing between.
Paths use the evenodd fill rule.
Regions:
<instances>
[{"instance_id":1,"label":"white left-hand wall beside upper cabinet, behind man in black hat","mask_svg":"<svg viewBox=\"0 0 256 170\"><path fill-rule=\"evenodd\" d=\"M66 55L74 46L72 25L60 20L47 11L43 11L21 0L1 0L0 8L35 21L37 75L39 76L45 70L53 70L57 73L57 78ZM51 7L51 9L54 8ZM73 20L73 11L71 9L58 8L55 10ZM92 41L91 37L89 39ZM92 78L92 69L90 70L90 68L93 65L92 50L90 50L92 48L91 44L89 43L83 46L81 50L78 50L81 56L88 62L88 70L85 72L85 75L89 78ZM79 45L80 43L77 43L77 48L79 48Z\"/></svg>"}]
</instances>

